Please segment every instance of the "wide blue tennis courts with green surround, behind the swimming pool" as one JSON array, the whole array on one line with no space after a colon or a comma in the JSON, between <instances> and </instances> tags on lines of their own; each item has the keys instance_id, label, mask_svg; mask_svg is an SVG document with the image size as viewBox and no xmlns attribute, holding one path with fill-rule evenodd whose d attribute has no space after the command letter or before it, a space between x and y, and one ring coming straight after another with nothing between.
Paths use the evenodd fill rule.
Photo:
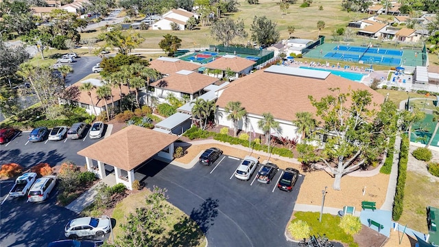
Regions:
<instances>
[{"instance_id":1,"label":"wide blue tennis courts with green surround, behind the swimming pool","mask_svg":"<svg viewBox=\"0 0 439 247\"><path fill-rule=\"evenodd\" d=\"M360 64L378 64L392 67L422 66L421 49L389 49L370 47L370 45L340 45L337 43L323 43L310 49L304 58L323 58L337 62L358 62Z\"/></svg>"}]
</instances>

